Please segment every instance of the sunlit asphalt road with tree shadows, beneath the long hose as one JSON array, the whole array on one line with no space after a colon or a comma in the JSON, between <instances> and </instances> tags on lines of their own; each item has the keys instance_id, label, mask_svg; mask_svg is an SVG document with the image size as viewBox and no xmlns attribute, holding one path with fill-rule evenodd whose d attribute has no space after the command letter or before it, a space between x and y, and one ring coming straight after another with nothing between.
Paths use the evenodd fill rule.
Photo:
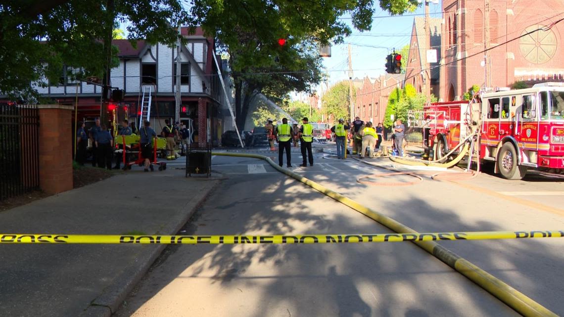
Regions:
<instances>
[{"instance_id":1,"label":"sunlit asphalt road with tree shadows, beneath the long hose","mask_svg":"<svg viewBox=\"0 0 564 317\"><path fill-rule=\"evenodd\" d=\"M298 153L293 159L301 163ZM362 175L390 171L319 154L315 160L312 167L293 170L420 232L564 228L562 179L532 175L515 182L481 174L458 183L424 177L397 186L414 181L400 175L369 177L372 184L361 184L356 180ZM213 170L225 179L181 234L389 232L264 161L214 157ZM441 244L564 315L564 240ZM115 314L434 315L518 314L410 243L170 246Z\"/></svg>"}]
</instances>

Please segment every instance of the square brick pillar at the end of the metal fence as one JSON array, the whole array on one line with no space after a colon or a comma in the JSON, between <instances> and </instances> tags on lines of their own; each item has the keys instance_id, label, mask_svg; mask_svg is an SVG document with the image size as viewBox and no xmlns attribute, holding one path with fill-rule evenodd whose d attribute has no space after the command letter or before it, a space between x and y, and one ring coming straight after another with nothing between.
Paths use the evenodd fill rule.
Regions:
<instances>
[{"instance_id":1,"label":"square brick pillar at the end of the metal fence","mask_svg":"<svg viewBox=\"0 0 564 317\"><path fill-rule=\"evenodd\" d=\"M72 110L70 105L38 105L39 187L46 193L73 188Z\"/></svg>"}]
</instances>

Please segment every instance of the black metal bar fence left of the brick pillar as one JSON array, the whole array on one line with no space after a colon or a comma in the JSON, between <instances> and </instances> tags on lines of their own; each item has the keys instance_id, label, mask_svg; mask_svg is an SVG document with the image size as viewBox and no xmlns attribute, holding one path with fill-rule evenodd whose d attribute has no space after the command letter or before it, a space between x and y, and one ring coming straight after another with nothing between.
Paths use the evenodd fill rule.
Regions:
<instances>
[{"instance_id":1,"label":"black metal bar fence left of the brick pillar","mask_svg":"<svg viewBox=\"0 0 564 317\"><path fill-rule=\"evenodd\" d=\"M0 105L0 201L39 188L39 112Z\"/></svg>"}]
</instances>

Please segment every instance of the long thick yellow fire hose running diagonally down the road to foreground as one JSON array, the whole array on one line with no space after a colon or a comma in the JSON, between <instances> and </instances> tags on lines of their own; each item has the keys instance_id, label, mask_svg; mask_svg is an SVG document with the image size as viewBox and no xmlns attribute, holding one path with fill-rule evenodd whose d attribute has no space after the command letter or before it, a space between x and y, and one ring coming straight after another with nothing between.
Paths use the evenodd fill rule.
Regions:
<instances>
[{"instance_id":1,"label":"long thick yellow fire hose running diagonally down the road to foreground","mask_svg":"<svg viewBox=\"0 0 564 317\"><path fill-rule=\"evenodd\" d=\"M468 151L468 149L466 149ZM404 224L395 221L394 219L387 217L381 213L375 212L374 210L368 208L356 202L349 197L345 197L340 193L334 192L329 190L329 188L321 186L321 184L316 183L308 178L302 177L301 175L294 173L291 170L281 168L278 166L274 161L271 160L270 157L258 155L258 154L249 154L249 153L225 153L225 152L212 152L212 155L217 156L236 156L236 157L253 157L265 160L270 164L273 168L292 177L299 182L306 184L307 186L313 188L320 193L323 193L326 196L331 197L332 199L341 202L342 204L349 206L350 208L356 210L359 213L366 215L367 217L373 219L374 221L384 225L387 228L395 231L398 234L414 234L418 235L419 232L404 226ZM519 292L518 290L510 287L508 284L504 283L500 279L497 279L495 276L489 274L488 272L482 270L478 266L475 266L473 263L467 261L466 259L460 257L459 255L453 253L451 250L448 250L442 245L434 241L412 241L421 249L424 249L426 252L430 253L434 257L440 259L448 266L452 267L454 270L459 272L460 274L466 276L469 280L472 280L474 283L478 284L483 289L490 292L493 296L497 297L500 301L504 302L509 307L512 307L515 311L519 312L519 314L526 316L526 317L538 317L538 316L551 316L551 317L558 317L558 315L554 314L554 312L548 310L544 306L540 305L539 303L531 300L531 298L525 296L525 294Z\"/></svg>"}]
</instances>

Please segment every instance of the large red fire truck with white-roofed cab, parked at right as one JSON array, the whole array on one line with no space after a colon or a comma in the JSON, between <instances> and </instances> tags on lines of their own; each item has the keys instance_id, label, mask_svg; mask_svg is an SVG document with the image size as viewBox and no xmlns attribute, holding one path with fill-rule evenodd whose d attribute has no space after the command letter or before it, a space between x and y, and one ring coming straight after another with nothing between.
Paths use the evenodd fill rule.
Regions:
<instances>
[{"instance_id":1,"label":"large red fire truck with white-roofed cab, parked at right","mask_svg":"<svg viewBox=\"0 0 564 317\"><path fill-rule=\"evenodd\" d=\"M506 179L522 179L528 169L564 171L563 83L499 89L472 102L432 103L420 122L424 148L433 150L434 159L479 131L471 155L493 162L495 173Z\"/></svg>"}]
</instances>

